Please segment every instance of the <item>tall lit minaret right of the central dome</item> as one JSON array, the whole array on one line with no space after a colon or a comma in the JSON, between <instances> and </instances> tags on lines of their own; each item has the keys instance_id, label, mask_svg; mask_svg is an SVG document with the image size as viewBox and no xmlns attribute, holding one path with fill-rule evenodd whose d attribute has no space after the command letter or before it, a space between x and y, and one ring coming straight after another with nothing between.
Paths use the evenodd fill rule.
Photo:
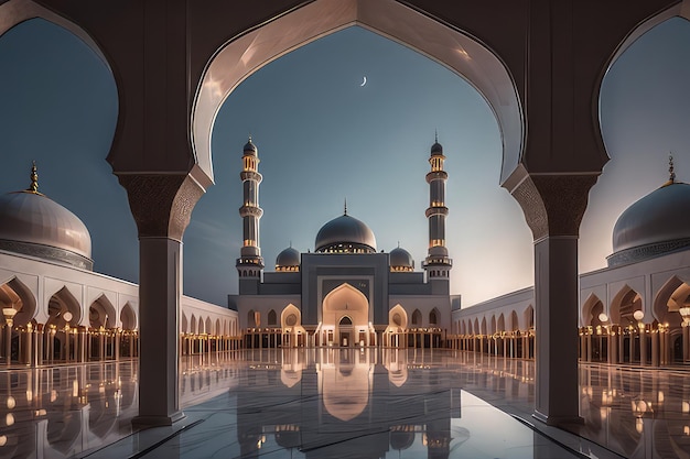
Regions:
<instances>
[{"instance_id":1,"label":"tall lit minaret right of the central dome","mask_svg":"<svg viewBox=\"0 0 690 459\"><path fill-rule=\"evenodd\" d=\"M439 287L446 289L453 261L448 256L448 249L445 248L445 217L448 216L445 181L448 181L448 173L443 170L443 160L445 160L443 146L439 143L439 136L436 135L435 142L431 146L431 156L429 157L431 172L427 174L427 183L429 184L429 208L427 209L427 218L429 219L429 254L422 263L422 267L427 271L429 281L442 281L445 285L443 287L439 285Z\"/></svg>"}]
</instances>

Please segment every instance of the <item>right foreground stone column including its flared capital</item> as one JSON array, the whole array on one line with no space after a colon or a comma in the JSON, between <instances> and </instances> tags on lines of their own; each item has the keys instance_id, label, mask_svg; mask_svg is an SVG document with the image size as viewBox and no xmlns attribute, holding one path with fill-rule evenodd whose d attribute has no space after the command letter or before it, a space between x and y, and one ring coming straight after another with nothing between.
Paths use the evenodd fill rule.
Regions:
<instances>
[{"instance_id":1,"label":"right foreground stone column including its flared capital","mask_svg":"<svg viewBox=\"0 0 690 459\"><path fill-rule=\"evenodd\" d=\"M525 174L504 184L535 239L535 413L550 425L582 423L578 386L578 237L596 175ZM508 185L508 186L506 186Z\"/></svg>"}]
</instances>

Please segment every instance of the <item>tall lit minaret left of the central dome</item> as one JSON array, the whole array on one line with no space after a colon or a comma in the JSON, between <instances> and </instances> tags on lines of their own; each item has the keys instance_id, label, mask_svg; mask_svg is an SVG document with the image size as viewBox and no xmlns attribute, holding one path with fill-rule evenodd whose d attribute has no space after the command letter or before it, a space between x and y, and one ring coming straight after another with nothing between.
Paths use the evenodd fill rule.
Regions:
<instances>
[{"instance_id":1,"label":"tall lit minaret left of the central dome","mask_svg":"<svg viewBox=\"0 0 690 459\"><path fill-rule=\"evenodd\" d=\"M259 174L257 153L257 146L251 143L251 136L249 136L242 154L242 172L239 174L242 179L245 198L242 207L239 208L239 216L242 218L244 242L240 258L237 259L236 263L240 294L250 293L247 292L247 287L249 291L258 288L258 281L260 281L261 270L263 270L263 259L259 247L259 220L263 215L263 209L259 207L259 184L263 177ZM245 280L249 282L245 282Z\"/></svg>"}]
</instances>

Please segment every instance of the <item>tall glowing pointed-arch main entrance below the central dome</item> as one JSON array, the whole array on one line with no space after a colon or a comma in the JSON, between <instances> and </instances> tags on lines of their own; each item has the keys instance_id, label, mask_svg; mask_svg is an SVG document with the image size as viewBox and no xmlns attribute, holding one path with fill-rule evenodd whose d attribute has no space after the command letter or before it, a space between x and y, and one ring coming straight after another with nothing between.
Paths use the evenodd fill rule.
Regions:
<instances>
[{"instance_id":1,"label":"tall glowing pointed-arch main entrance below the central dome","mask_svg":"<svg viewBox=\"0 0 690 459\"><path fill-rule=\"evenodd\" d=\"M316 346L374 346L371 341L369 300L347 282L323 299Z\"/></svg>"}]
</instances>

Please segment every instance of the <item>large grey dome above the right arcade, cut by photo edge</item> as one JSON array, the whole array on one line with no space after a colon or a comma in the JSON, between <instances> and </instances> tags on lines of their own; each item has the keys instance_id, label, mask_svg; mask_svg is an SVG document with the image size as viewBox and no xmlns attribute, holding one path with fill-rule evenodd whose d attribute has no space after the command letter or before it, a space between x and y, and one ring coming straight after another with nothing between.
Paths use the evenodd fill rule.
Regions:
<instances>
[{"instance_id":1,"label":"large grey dome above the right arcade, cut by photo edge","mask_svg":"<svg viewBox=\"0 0 690 459\"><path fill-rule=\"evenodd\" d=\"M628 207L613 229L615 265L690 244L690 185L669 182Z\"/></svg>"}]
</instances>

